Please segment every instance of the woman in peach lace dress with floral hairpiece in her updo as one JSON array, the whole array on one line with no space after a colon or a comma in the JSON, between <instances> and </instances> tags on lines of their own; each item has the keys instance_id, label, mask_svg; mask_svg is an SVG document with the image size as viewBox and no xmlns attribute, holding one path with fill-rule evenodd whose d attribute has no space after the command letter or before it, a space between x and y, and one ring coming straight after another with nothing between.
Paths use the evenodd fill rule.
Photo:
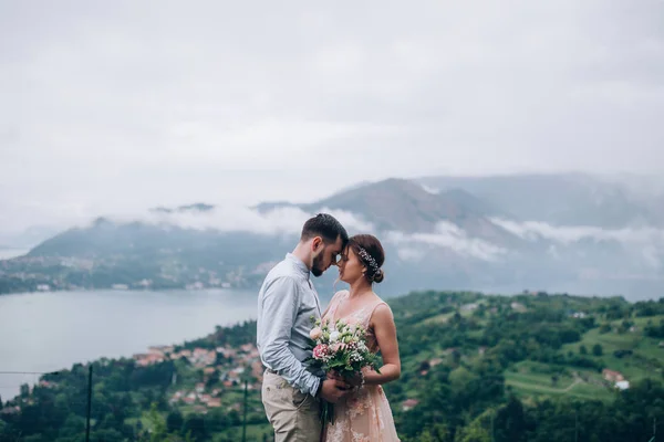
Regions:
<instances>
[{"instance_id":1,"label":"woman in peach lace dress with floral hairpiece in her updo","mask_svg":"<svg viewBox=\"0 0 664 442\"><path fill-rule=\"evenodd\" d=\"M384 365L380 375L364 370L361 378L353 380L353 391L334 404L334 423L323 431L326 442L398 441L392 410L381 387L401 376L396 327L392 311L373 292L373 284L383 281L384 261L381 242L373 235L361 234L349 240L338 263L339 278L350 290L334 294L322 319L362 325L367 330L367 347L381 351Z\"/></svg>"}]
</instances>

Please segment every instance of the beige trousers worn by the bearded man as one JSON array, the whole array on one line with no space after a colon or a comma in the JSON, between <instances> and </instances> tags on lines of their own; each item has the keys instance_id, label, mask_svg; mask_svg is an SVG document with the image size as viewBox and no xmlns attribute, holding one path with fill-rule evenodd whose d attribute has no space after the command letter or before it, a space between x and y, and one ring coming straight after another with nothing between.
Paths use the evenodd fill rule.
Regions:
<instances>
[{"instance_id":1,"label":"beige trousers worn by the bearded man","mask_svg":"<svg viewBox=\"0 0 664 442\"><path fill-rule=\"evenodd\" d=\"M262 402L274 429L274 442L315 442L321 439L320 402L291 387L281 376L266 371Z\"/></svg>"}]
</instances>

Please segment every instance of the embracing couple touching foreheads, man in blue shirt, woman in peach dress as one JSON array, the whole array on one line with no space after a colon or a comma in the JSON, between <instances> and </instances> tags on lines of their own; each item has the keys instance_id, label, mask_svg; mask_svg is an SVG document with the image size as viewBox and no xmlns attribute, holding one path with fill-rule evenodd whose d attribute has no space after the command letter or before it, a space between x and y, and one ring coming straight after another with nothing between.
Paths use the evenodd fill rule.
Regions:
<instances>
[{"instance_id":1,"label":"embracing couple touching foreheads, man in blue shirt, woman in peach dress","mask_svg":"<svg viewBox=\"0 0 664 442\"><path fill-rule=\"evenodd\" d=\"M390 403L381 387L398 379L401 361L392 311L374 292L385 260L373 235L349 238L332 215L320 213L302 228L300 242L266 276L258 297L257 346L266 366L262 402L279 441L398 441ZM322 311L311 275L330 266L350 290L334 294ZM311 317L343 319L367 330L367 346L381 351L380 373L364 370L344 381L315 372L311 356ZM334 403L334 422L320 420L321 400Z\"/></svg>"}]
</instances>

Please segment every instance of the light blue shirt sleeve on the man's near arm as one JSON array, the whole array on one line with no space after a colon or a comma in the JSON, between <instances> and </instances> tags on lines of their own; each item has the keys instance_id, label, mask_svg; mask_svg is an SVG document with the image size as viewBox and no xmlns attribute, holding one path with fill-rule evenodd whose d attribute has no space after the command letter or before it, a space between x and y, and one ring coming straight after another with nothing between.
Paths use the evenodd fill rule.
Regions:
<instances>
[{"instance_id":1,"label":"light blue shirt sleeve on the man's near arm","mask_svg":"<svg viewBox=\"0 0 664 442\"><path fill-rule=\"evenodd\" d=\"M261 343L262 362L301 392L314 396L320 378L307 370L289 348L300 306L300 292L295 281L282 276L270 282L263 291L261 303L262 318L257 333L258 341Z\"/></svg>"}]
</instances>

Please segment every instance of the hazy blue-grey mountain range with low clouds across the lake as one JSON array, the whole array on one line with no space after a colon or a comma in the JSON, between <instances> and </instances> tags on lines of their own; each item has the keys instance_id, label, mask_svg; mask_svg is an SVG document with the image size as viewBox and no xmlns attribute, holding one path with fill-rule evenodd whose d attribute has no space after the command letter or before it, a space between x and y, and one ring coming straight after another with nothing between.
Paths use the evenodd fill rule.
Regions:
<instances>
[{"instance_id":1,"label":"hazy blue-grey mountain range with low clouds across the lake","mask_svg":"<svg viewBox=\"0 0 664 442\"><path fill-rule=\"evenodd\" d=\"M0 261L0 293L45 285L258 288L304 220L329 211L349 233L381 239L387 277L376 288L385 295L536 288L644 298L664 290L656 198L591 176L532 175L393 178L239 214L203 202L156 208L133 221L100 218ZM335 276L328 272L317 286L332 291Z\"/></svg>"}]
</instances>

